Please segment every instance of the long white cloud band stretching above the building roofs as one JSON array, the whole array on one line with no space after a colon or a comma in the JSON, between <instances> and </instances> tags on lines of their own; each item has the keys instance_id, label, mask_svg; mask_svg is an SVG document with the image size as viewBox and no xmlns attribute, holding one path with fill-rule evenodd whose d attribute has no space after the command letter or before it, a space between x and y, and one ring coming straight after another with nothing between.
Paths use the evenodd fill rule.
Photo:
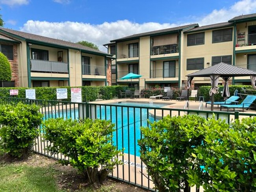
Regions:
<instances>
[{"instance_id":1,"label":"long white cloud band stretching above the building roofs","mask_svg":"<svg viewBox=\"0 0 256 192\"><path fill-rule=\"evenodd\" d=\"M218 22L226 22L232 17L255 12L256 0L240 0L231 7L219 10L215 9L208 15L204 15L201 18L191 16L191 22L189 23L198 23L202 26ZM89 23L70 21L47 22L28 20L20 30L72 42L86 40L94 42L100 46L101 50L106 51L106 48L104 48L102 44L108 43L110 40L135 33L171 28L184 24L187 23L160 24L156 22L147 22L139 24L129 20L118 20L116 22L104 22L102 24L93 25Z\"/></svg>"}]
</instances>

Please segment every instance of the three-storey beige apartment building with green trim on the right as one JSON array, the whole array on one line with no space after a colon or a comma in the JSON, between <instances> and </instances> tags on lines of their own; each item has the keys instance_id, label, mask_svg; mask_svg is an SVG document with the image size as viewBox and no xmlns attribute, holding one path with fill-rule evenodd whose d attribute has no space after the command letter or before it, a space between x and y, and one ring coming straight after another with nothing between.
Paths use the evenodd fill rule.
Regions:
<instances>
[{"instance_id":1,"label":"three-storey beige apartment building with green trim on the right","mask_svg":"<svg viewBox=\"0 0 256 192\"><path fill-rule=\"evenodd\" d=\"M185 87L187 74L220 62L256 70L256 14L207 26L190 24L139 33L105 46L116 58L112 61L112 84ZM142 77L120 79L129 72ZM250 78L234 78L230 83L247 85ZM209 84L210 78L194 78L192 82L194 87Z\"/></svg>"}]
</instances>

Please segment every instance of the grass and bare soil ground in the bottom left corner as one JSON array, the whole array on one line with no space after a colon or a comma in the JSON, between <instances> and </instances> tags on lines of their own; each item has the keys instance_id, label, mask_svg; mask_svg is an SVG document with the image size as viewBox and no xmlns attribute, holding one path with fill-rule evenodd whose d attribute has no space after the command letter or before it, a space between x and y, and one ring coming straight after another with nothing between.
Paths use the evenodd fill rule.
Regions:
<instances>
[{"instance_id":1,"label":"grass and bare soil ground in the bottom left corner","mask_svg":"<svg viewBox=\"0 0 256 192\"><path fill-rule=\"evenodd\" d=\"M23 161L10 161L0 151L0 192L145 192L137 187L107 180L95 190L71 166L33 154Z\"/></svg>"}]
</instances>

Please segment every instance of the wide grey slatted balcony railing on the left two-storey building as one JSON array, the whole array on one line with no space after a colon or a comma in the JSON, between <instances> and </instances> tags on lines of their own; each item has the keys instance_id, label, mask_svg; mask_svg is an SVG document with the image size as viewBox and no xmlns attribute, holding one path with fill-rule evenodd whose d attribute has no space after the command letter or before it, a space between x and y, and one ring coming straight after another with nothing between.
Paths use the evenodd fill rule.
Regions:
<instances>
[{"instance_id":1,"label":"wide grey slatted balcony railing on the left two-storey building","mask_svg":"<svg viewBox=\"0 0 256 192\"><path fill-rule=\"evenodd\" d=\"M69 73L68 63L30 59L31 72Z\"/></svg>"}]
</instances>

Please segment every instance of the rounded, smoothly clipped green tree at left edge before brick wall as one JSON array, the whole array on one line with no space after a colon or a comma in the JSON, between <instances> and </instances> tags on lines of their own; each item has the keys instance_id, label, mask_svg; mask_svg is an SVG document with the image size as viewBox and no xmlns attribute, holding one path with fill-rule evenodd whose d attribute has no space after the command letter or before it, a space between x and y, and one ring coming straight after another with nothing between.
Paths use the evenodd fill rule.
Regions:
<instances>
[{"instance_id":1,"label":"rounded, smoothly clipped green tree at left edge before brick wall","mask_svg":"<svg viewBox=\"0 0 256 192\"><path fill-rule=\"evenodd\" d=\"M0 81L11 81L11 65L7 57L0 53Z\"/></svg>"}]
</instances>

